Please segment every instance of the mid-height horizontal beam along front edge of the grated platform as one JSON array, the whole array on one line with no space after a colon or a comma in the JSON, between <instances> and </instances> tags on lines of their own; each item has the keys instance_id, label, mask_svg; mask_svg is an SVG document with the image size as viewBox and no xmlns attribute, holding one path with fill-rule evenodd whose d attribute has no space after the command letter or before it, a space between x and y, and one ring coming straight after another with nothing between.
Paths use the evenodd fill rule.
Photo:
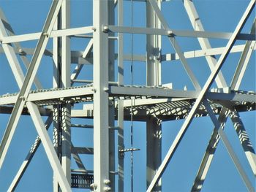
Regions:
<instances>
[{"instance_id":1,"label":"mid-height horizontal beam along front edge of the grated platform","mask_svg":"<svg viewBox=\"0 0 256 192\"><path fill-rule=\"evenodd\" d=\"M151 88L146 86L109 86L108 91L110 98L130 99L132 97L143 98L178 98L178 99L195 99L198 91L183 91L172 90L167 88ZM44 101L51 99L67 99L75 98L75 101L83 101L80 96L92 96L94 88L92 86L86 87L72 87L67 89L45 90L36 93L29 93L26 101ZM14 104L18 95L1 96L0 105ZM255 93L214 93L207 92L206 98L217 101L244 101L256 102ZM72 100L72 99L71 99ZM43 104L42 104L43 105Z\"/></svg>"}]
</instances>

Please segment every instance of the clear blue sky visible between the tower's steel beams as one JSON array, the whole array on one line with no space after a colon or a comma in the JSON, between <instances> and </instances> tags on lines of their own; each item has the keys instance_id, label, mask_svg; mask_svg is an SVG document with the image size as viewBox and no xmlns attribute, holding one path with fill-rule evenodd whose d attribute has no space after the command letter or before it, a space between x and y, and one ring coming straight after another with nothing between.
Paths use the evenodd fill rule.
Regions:
<instances>
[{"instance_id":1,"label":"clear blue sky visible between the tower's steel beams","mask_svg":"<svg viewBox=\"0 0 256 192\"><path fill-rule=\"evenodd\" d=\"M45 18L50 8L50 0L41 1L0 1L1 9L7 19L10 21L12 28L16 34L25 34L41 31ZM227 31L232 32L236 28L241 15L244 13L248 0L195 0L197 12L202 20L206 31ZM131 10L130 2L124 2L124 25L131 25ZM143 2L134 2L133 4L133 24L134 26L146 26L146 6ZM72 1L71 4L71 26L89 26L92 24L92 1ZM162 4L162 12L167 19L171 28L192 30L192 26L187 17L187 13L183 7L181 0L173 0L164 2ZM255 18L255 11L252 12L248 22L244 26L243 32L248 33L253 19ZM131 35L124 35L124 52L131 53ZM146 36L133 36L133 53L146 54ZM86 47L88 39L72 39L71 46L73 50L83 50ZM183 51L200 49L196 39L177 38L177 42L181 45ZM243 44L243 41L236 42L236 45ZM23 42L23 47L34 47L37 41ZM222 47L227 44L227 40L211 39L212 47ZM51 49L52 41L48 43L48 48ZM166 37L162 38L162 53L174 53L170 42ZM222 72L225 74L227 84L233 77L240 53L233 53L227 58ZM218 58L218 57L217 57ZM204 58L188 59L189 65L196 77L203 86L210 71ZM130 84L130 62L126 61L124 74L125 84ZM7 63L4 54L0 55L0 94L18 92L18 86ZM75 65L72 65L72 69ZM24 69L25 72L25 69ZM52 61L51 58L43 58L42 64L39 68L38 77L41 80L44 88L52 87ZM79 79L91 79L92 66L86 66L83 69ZM140 62L134 62L134 84L146 84L146 65ZM182 89L187 85L188 89L193 89L192 83L189 82L186 72L179 61L162 63L162 83L173 82L175 89ZM216 87L215 83L213 85ZM252 56L249 66L246 70L245 77L241 83L241 89L246 91L255 91L255 54ZM82 107L81 105L78 106ZM249 133L252 144L255 146L255 112L243 112L241 118L244 120L244 126ZM9 115L0 115L0 137L4 134L5 126ZM44 118L45 119L45 118ZM162 155L167 153L173 139L176 137L179 128L184 120L176 120L162 123ZM73 120L72 123L92 123L91 120ZM50 137L51 137L50 129ZM169 166L162 177L163 191L189 191L195 178L198 166L200 165L203 153L206 150L208 139L211 136L213 124L210 118L196 118L192 121L187 134L185 134L181 145L178 147L176 154L170 161ZM129 148L129 131L130 122L125 123L124 134L125 145ZM225 130L230 142L236 149L241 163L249 176L249 179L255 186L255 178L242 147L238 141L236 132L230 120L227 120ZM7 153L7 158L4 161L4 166L0 170L0 191L6 191L11 183L12 178L18 171L20 164L26 157L26 154L34 142L37 133L34 124L30 117L20 118L18 128L15 132L15 137L12 139L10 150ZM85 131L84 129L72 129L72 142L75 146L92 147L92 130ZM134 147L140 148L140 151L134 153L134 191L146 191L146 124L134 123ZM92 169L93 158L91 155L81 155L86 164L87 169ZM130 156L126 153L125 156L125 191L130 191ZM72 162L72 168L76 168ZM18 185L17 191L52 191L52 170L45 151L42 146L39 147L37 154L24 174L23 179ZM117 177L116 177L117 178ZM76 190L74 190L76 191ZM208 172L208 177L203 185L203 191L246 191L246 187L236 171L233 162L231 161L227 151L222 142L219 142L214 161Z\"/></svg>"}]
</instances>

